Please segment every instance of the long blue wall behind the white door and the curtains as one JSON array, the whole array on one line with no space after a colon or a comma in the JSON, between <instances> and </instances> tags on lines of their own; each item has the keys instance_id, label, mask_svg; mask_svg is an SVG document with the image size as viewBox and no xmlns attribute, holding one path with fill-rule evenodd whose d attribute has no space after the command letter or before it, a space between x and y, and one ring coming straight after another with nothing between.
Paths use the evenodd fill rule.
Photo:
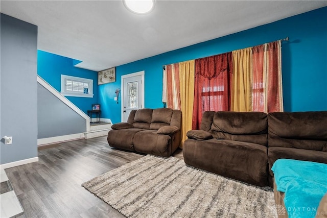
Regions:
<instances>
[{"instance_id":1,"label":"long blue wall behind the white door and the curtains","mask_svg":"<svg viewBox=\"0 0 327 218\"><path fill-rule=\"evenodd\" d=\"M196 31L196 30L195 30ZM116 67L116 82L99 86L102 117L121 121L113 100L121 76L145 70L145 107L163 107L162 65L243 49L289 37L282 43L285 111L327 110L327 7L278 20L267 25L209 40ZM132 51L131 51L132 52Z\"/></svg>"}]
</instances>

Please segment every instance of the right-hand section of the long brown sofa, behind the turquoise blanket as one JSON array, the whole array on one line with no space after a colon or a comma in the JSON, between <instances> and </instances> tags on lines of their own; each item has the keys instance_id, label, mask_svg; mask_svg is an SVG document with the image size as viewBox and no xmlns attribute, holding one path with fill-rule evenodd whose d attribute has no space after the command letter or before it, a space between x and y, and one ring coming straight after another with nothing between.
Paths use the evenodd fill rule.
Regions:
<instances>
[{"instance_id":1,"label":"right-hand section of the long brown sofa, behind the turquoise blanket","mask_svg":"<svg viewBox=\"0 0 327 218\"><path fill-rule=\"evenodd\" d=\"M327 163L327 111L269 113L268 146L270 186L277 159Z\"/></svg>"}]
</instances>

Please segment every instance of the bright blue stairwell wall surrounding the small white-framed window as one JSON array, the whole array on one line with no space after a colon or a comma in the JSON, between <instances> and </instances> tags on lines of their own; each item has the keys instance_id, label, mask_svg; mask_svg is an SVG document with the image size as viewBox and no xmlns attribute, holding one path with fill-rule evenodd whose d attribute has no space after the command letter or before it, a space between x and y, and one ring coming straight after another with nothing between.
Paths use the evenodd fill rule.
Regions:
<instances>
[{"instance_id":1,"label":"bright blue stairwell wall surrounding the small white-framed window","mask_svg":"<svg viewBox=\"0 0 327 218\"><path fill-rule=\"evenodd\" d=\"M38 50L37 74L59 92L61 89L62 74L93 80L93 98L66 96L69 101L84 113L87 113L87 110L91 110L92 104L98 104L98 72L74 66L80 62L79 60Z\"/></svg>"}]
</instances>

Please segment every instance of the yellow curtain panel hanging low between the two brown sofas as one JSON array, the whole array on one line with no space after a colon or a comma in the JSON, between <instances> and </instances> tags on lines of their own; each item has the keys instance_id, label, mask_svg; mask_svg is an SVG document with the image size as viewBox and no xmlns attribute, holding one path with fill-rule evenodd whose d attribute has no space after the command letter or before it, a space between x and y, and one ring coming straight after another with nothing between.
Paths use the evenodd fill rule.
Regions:
<instances>
[{"instance_id":1,"label":"yellow curtain panel hanging low between the two brown sofas","mask_svg":"<svg viewBox=\"0 0 327 218\"><path fill-rule=\"evenodd\" d=\"M186 140L186 133L192 130L194 103L194 60L179 63L179 92L182 111L181 146Z\"/></svg>"}]
</instances>

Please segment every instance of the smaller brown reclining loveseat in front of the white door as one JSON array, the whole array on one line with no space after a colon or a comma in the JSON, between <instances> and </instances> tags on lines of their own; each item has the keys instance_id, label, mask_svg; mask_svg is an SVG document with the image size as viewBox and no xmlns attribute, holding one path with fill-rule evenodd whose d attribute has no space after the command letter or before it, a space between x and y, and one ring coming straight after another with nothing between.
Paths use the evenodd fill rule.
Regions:
<instances>
[{"instance_id":1,"label":"smaller brown reclining loveseat in front of the white door","mask_svg":"<svg viewBox=\"0 0 327 218\"><path fill-rule=\"evenodd\" d=\"M180 144L180 127L180 110L132 110L127 123L111 126L107 140L110 147L169 157Z\"/></svg>"}]
</instances>

